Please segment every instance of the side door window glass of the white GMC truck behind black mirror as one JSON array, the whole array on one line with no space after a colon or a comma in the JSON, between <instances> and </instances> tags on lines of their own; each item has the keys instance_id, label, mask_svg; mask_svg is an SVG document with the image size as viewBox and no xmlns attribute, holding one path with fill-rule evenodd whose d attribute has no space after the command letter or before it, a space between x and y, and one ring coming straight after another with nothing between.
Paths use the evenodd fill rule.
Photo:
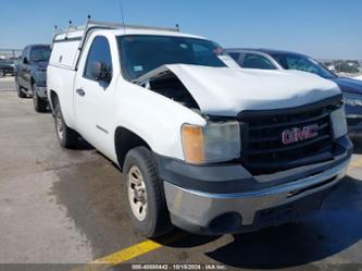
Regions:
<instances>
[{"instance_id":1,"label":"side door window glass of the white GMC truck behind black mirror","mask_svg":"<svg viewBox=\"0 0 362 271\"><path fill-rule=\"evenodd\" d=\"M112 54L108 39L103 36L98 36L93 39L88 56L83 76L91 81L98 81L91 73L91 65L95 62L104 64L104 69L109 72L112 79Z\"/></svg>"}]
</instances>

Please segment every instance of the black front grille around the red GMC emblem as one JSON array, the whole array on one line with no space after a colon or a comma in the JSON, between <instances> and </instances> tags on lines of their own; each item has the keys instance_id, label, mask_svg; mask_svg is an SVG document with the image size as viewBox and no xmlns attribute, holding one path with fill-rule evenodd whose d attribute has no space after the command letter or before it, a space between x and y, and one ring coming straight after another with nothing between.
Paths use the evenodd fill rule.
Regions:
<instances>
[{"instance_id":1,"label":"black front grille around the red GMC emblem","mask_svg":"<svg viewBox=\"0 0 362 271\"><path fill-rule=\"evenodd\" d=\"M329 113L339 107L338 96L304 108L241 112L242 164L253 174L269 174L333 159ZM283 144L283 131L312 124L316 137Z\"/></svg>"}]
</instances>

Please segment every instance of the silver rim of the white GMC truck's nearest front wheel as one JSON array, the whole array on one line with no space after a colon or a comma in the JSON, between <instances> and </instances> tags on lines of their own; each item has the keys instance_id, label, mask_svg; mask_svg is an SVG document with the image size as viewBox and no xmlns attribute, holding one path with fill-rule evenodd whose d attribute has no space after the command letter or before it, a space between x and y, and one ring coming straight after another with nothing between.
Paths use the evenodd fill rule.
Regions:
<instances>
[{"instance_id":1,"label":"silver rim of the white GMC truck's nearest front wheel","mask_svg":"<svg viewBox=\"0 0 362 271\"><path fill-rule=\"evenodd\" d=\"M128 200L132 212L139 220L143 221L147 214L147 190L141 171L132 167L128 171Z\"/></svg>"}]
</instances>

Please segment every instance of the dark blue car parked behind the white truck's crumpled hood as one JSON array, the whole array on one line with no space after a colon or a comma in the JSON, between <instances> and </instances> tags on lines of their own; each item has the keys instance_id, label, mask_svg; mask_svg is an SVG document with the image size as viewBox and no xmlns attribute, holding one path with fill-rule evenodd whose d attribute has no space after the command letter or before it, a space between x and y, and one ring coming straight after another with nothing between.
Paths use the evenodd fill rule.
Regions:
<instances>
[{"instance_id":1,"label":"dark blue car parked behind the white truck's crumpled hood","mask_svg":"<svg viewBox=\"0 0 362 271\"><path fill-rule=\"evenodd\" d=\"M299 70L317 74L336 83L344 94L348 132L362 136L362 82L339 77L312 58L288 51L269 49L228 49L241 67L263 70Z\"/></svg>"}]
</instances>

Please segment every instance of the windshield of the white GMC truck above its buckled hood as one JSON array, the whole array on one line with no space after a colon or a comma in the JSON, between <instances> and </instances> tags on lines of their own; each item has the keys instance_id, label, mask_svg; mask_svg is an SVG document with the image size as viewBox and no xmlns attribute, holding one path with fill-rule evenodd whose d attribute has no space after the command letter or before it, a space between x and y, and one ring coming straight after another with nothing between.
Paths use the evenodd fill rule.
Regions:
<instances>
[{"instance_id":1,"label":"windshield of the white GMC truck above its buckled hood","mask_svg":"<svg viewBox=\"0 0 362 271\"><path fill-rule=\"evenodd\" d=\"M216 44L198 38L127 35L117 37L124 76L134 81L164 64L226 66Z\"/></svg>"}]
</instances>

